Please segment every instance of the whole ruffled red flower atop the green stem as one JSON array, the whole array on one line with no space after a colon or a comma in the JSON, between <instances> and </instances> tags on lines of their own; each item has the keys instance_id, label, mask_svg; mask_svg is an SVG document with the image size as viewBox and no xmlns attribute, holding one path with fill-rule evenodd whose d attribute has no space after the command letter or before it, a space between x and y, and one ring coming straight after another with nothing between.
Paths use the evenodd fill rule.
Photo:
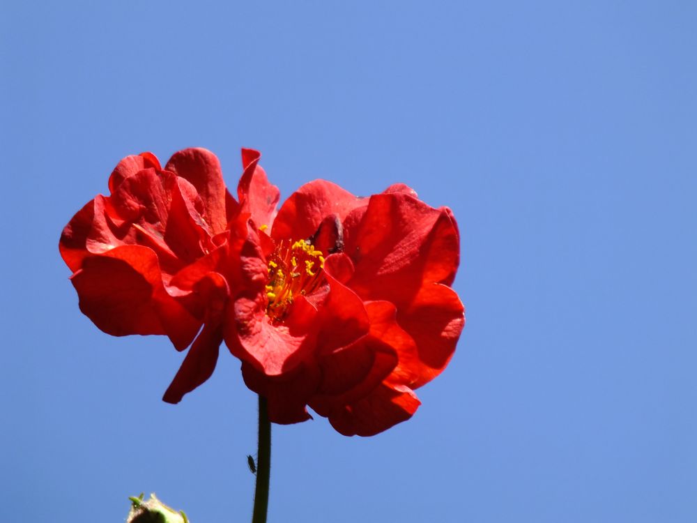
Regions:
<instances>
[{"instance_id":1,"label":"whole ruffled red flower atop the green stem","mask_svg":"<svg viewBox=\"0 0 697 523\"><path fill-rule=\"evenodd\" d=\"M191 345L166 402L210 377L224 340L276 423L307 420L308 405L346 435L410 418L464 326L450 209L406 185L362 198L318 180L276 211L259 153L242 158L238 201L205 149L164 169L151 153L121 160L111 195L61 236L80 309L112 335Z\"/></svg>"}]
</instances>

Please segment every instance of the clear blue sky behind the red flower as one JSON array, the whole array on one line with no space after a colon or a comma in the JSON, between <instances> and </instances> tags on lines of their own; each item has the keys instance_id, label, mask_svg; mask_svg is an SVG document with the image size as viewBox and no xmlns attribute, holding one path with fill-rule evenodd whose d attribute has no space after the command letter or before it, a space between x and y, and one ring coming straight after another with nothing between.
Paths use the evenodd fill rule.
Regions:
<instances>
[{"instance_id":1,"label":"clear blue sky behind the red flower","mask_svg":"<svg viewBox=\"0 0 697 523\"><path fill-rule=\"evenodd\" d=\"M260 149L284 197L412 185L462 232L468 324L415 417L275 426L270 522L697 521L697 6L5 2L0 520L141 491L246 521L256 400L77 309L63 225L131 153Z\"/></svg>"}]
</instances>

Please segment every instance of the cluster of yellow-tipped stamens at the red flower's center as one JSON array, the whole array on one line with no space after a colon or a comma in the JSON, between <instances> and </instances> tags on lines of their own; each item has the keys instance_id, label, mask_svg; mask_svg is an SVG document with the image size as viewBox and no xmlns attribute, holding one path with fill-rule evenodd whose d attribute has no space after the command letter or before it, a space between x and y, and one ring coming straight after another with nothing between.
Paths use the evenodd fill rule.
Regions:
<instances>
[{"instance_id":1,"label":"cluster of yellow-tipped stamens at the red flower's center","mask_svg":"<svg viewBox=\"0 0 697 523\"><path fill-rule=\"evenodd\" d=\"M266 315L272 321L282 321L294 296L311 294L322 285L323 267L322 252L314 245L305 240L292 245L281 241L268 260Z\"/></svg>"}]
</instances>

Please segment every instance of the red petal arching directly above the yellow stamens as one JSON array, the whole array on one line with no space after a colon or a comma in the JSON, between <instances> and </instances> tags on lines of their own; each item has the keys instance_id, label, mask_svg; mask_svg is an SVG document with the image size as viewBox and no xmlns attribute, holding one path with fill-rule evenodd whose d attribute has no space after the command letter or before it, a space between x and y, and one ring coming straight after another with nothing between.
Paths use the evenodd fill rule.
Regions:
<instances>
[{"instance_id":1,"label":"red petal arching directly above the yellow stamens","mask_svg":"<svg viewBox=\"0 0 697 523\"><path fill-rule=\"evenodd\" d=\"M276 240L309 238L326 216L337 215L343 221L349 212L362 205L365 199L353 196L339 185L311 181L286 199L278 211L271 236Z\"/></svg>"}]
</instances>

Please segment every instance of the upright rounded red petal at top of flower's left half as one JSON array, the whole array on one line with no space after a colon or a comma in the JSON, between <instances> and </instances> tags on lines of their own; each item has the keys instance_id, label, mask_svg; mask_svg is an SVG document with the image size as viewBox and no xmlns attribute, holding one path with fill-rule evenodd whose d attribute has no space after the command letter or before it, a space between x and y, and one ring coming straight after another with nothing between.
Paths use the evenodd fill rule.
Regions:
<instances>
[{"instance_id":1,"label":"upright rounded red petal at top of flower's left half","mask_svg":"<svg viewBox=\"0 0 697 523\"><path fill-rule=\"evenodd\" d=\"M224 231L238 209L236 202L227 195L220 162L215 154L200 148L184 149L174 153L164 169L194 185L204 203L206 222L213 233Z\"/></svg>"}]
</instances>

